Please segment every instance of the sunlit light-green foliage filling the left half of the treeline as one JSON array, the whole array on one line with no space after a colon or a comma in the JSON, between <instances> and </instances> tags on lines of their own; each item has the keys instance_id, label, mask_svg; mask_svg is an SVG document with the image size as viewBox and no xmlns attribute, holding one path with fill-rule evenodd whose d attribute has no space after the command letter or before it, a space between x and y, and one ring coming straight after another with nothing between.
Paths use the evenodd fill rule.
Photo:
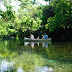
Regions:
<instances>
[{"instance_id":1,"label":"sunlit light-green foliage filling the left half of the treeline","mask_svg":"<svg viewBox=\"0 0 72 72\"><path fill-rule=\"evenodd\" d=\"M26 32L27 30L36 31L39 29L41 24L41 10L37 12L37 7L32 7L32 1L28 0L21 0L20 9L18 13L12 10L12 6L7 4L7 1L4 1L6 6L6 11L0 10L0 15L2 16L1 21L3 27L1 25L1 37L2 35L7 36L17 36L22 35L22 33ZM32 11L32 12L31 12ZM34 13L34 12L35 13Z\"/></svg>"}]
</instances>

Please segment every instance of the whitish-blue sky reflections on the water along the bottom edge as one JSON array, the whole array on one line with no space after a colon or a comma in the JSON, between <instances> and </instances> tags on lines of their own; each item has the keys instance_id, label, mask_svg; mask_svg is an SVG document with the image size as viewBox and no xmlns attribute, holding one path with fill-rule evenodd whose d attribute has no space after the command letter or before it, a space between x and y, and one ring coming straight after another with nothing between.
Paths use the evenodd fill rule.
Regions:
<instances>
[{"instance_id":1,"label":"whitish-blue sky reflections on the water along the bottom edge","mask_svg":"<svg viewBox=\"0 0 72 72\"><path fill-rule=\"evenodd\" d=\"M15 71L14 69L14 63L13 62L8 62L6 59L4 59L1 62L1 66L0 66L0 72L26 72L24 71L24 69L20 66L17 67L17 70ZM36 66L34 67L34 71L35 72L54 72L53 68L48 67L48 66ZM32 72L30 69L27 69L28 72Z\"/></svg>"}]
</instances>

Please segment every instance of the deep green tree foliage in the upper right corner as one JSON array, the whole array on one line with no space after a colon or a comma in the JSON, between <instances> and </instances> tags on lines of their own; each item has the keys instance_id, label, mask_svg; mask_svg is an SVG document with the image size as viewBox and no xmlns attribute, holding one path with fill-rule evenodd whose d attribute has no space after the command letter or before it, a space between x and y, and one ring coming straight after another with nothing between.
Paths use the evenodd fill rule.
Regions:
<instances>
[{"instance_id":1,"label":"deep green tree foliage in the upper right corner","mask_svg":"<svg viewBox=\"0 0 72 72\"><path fill-rule=\"evenodd\" d=\"M55 1L55 15L52 18L53 20L51 18L48 18L46 28L49 28L50 31L54 31L55 29L60 27L65 28L67 25L71 26L70 10L71 8L67 1Z\"/></svg>"}]
</instances>

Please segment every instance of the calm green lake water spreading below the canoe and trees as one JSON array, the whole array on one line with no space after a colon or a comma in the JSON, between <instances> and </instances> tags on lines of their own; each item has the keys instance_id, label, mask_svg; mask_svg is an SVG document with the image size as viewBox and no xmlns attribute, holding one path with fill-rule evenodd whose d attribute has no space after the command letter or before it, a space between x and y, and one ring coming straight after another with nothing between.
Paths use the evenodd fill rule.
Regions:
<instances>
[{"instance_id":1,"label":"calm green lake water spreading below the canoe and trees","mask_svg":"<svg viewBox=\"0 0 72 72\"><path fill-rule=\"evenodd\" d=\"M0 40L0 72L72 72L72 42Z\"/></svg>"}]
</instances>

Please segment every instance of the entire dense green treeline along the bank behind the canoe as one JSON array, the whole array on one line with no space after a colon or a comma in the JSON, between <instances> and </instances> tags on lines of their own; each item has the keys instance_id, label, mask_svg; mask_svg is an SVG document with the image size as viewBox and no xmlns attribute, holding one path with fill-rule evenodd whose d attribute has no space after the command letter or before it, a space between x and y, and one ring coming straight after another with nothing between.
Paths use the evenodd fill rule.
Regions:
<instances>
[{"instance_id":1,"label":"entire dense green treeline along the bank behind the canoe","mask_svg":"<svg viewBox=\"0 0 72 72\"><path fill-rule=\"evenodd\" d=\"M19 1L19 9L16 12L10 1L4 0L6 11L0 9L1 38L29 37L30 33L41 38L46 32L53 41L71 40L71 0L49 0L49 5L37 5L35 0Z\"/></svg>"}]
</instances>

